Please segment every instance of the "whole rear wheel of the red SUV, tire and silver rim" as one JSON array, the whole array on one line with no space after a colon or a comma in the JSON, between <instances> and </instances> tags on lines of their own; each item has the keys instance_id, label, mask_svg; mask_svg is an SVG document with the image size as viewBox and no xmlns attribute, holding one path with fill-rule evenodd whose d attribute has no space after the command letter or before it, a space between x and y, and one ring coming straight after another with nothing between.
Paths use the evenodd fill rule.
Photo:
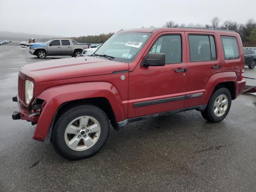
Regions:
<instances>
[{"instance_id":1,"label":"whole rear wheel of the red SUV, tire and silver rim","mask_svg":"<svg viewBox=\"0 0 256 192\"><path fill-rule=\"evenodd\" d=\"M220 88L214 92L206 109L201 112L203 118L210 122L220 122L227 115L231 106L231 94L227 88Z\"/></svg>"}]
</instances>

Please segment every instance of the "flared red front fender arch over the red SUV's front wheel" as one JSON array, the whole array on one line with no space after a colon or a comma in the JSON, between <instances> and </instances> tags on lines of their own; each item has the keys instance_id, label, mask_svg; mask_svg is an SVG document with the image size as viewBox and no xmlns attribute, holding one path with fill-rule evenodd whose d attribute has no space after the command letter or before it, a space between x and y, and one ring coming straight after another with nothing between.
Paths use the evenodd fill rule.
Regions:
<instances>
[{"instance_id":1,"label":"flared red front fender arch over the red SUV's front wheel","mask_svg":"<svg viewBox=\"0 0 256 192\"><path fill-rule=\"evenodd\" d=\"M95 98L104 96L112 106L116 120L122 121L125 119L122 99L117 89L108 82L89 82L79 84L68 84L49 88L42 92L38 98L45 100L42 113L38 119L38 124L34 132L33 139L44 141L52 118L61 104L84 98Z\"/></svg>"}]
</instances>

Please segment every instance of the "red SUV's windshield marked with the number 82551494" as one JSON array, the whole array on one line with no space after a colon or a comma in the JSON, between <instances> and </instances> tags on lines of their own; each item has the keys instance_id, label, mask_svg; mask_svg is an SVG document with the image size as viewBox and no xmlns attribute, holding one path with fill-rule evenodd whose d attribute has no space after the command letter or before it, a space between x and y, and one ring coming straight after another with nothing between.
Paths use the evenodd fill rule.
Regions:
<instances>
[{"instance_id":1,"label":"red SUV's windshield marked with the number 82551494","mask_svg":"<svg viewBox=\"0 0 256 192\"><path fill-rule=\"evenodd\" d=\"M132 62L147 42L151 33L122 32L111 36L95 54L114 57L114 61Z\"/></svg>"}]
</instances>

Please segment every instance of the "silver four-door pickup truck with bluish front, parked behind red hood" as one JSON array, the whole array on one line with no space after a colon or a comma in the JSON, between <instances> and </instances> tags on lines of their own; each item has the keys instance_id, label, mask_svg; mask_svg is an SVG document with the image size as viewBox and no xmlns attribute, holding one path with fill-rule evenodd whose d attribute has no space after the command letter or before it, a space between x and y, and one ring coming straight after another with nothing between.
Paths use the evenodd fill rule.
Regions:
<instances>
[{"instance_id":1,"label":"silver four-door pickup truck with bluish front, parked behind red hood","mask_svg":"<svg viewBox=\"0 0 256 192\"><path fill-rule=\"evenodd\" d=\"M72 39L51 39L46 43L30 43L29 52L38 58L46 56L69 55L82 56L82 51L90 48L89 44L78 43Z\"/></svg>"}]
</instances>

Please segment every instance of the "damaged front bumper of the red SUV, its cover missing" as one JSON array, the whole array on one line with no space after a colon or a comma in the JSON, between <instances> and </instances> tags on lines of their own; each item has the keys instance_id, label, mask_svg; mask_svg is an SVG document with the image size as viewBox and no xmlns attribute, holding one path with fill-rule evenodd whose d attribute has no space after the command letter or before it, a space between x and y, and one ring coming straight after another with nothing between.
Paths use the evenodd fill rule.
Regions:
<instances>
[{"instance_id":1,"label":"damaged front bumper of the red SUV, its cover missing","mask_svg":"<svg viewBox=\"0 0 256 192\"><path fill-rule=\"evenodd\" d=\"M20 103L20 99L18 97L18 95L16 97L12 98L12 101L14 102L18 102L18 107L19 107L19 112L13 112L12 114L12 119L13 120L27 120L27 121L31 121L33 124L36 124L38 122L38 118L39 118L39 114L40 114L40 110L39 109L29 109L24 107L21 103Z\"/></svg>"}]
</instances>

